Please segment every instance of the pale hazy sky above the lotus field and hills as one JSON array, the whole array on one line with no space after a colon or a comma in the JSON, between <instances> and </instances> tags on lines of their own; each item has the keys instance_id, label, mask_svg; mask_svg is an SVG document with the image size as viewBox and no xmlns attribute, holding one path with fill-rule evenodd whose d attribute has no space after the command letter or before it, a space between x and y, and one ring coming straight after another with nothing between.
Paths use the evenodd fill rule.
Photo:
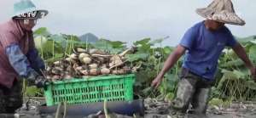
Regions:
<instances>
[{"instance_id":1,"label":"pale hazy sky above the lotus field and hills","mask_svg":"<svg viewBox=\"0 0 256 118\"><path fill-rule=\"evenodd\" d=\"M10 19L13 4L0 0L0 23ZM256 35L255 0L232 0L244 26L227 25L236 37ZM146 37L169 36L163 44L176 46L185 31L204 20L195 13L212 0L33 0L49 15L34 28L47 27L54 34L81 36L93 33L113 41L134 42Z\"/></svg>"}]
</instances>

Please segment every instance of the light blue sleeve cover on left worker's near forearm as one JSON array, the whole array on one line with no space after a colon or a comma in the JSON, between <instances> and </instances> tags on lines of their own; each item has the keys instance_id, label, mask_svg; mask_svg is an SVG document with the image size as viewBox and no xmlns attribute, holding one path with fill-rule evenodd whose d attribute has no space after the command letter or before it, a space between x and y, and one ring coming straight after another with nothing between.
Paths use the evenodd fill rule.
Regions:
<instances>
[{"instance_id":1,"label":"light blue sleeve cover on left worker's near forearm","mask_svg":"<svg viewBox=\"0 0 256 118\"><path fill-rule=\"evenodd\" d=\"M10 65L13 66L15 71L21 77L26 78L28 74L33 71L28 59L26 58L26 55L24 55L20 50L20 46L17 44L11 44L6 48L5 52L8 55Z\"/></svg>"}]
</instances>

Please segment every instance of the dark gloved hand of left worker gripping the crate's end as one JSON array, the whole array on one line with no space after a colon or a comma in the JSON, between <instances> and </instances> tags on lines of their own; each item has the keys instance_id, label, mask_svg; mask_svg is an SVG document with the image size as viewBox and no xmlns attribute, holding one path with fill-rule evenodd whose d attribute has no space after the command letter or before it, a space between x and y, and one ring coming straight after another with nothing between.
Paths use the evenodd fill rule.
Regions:
<instances>
[{"instance_id":1,"label":"dark gloved hand of left worker gripping the crate's end","mask_svg":"<svg viewBox=\"0 0 256 118\"><path fill-rule=\"evenodd\" d=\"M40 76L35 70L32 70L28 73L27 80L33 81L37 87L45 87L47 82L44 76Z\"/></svg>"}]
</instances>

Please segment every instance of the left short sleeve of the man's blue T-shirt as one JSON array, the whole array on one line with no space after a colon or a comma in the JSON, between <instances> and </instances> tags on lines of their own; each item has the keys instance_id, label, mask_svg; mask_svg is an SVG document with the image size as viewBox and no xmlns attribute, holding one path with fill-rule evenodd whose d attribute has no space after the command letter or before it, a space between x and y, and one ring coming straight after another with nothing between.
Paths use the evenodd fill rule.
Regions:
<instances>
[{"instance_id":1,"label":"left short sleeve of the man's blue T-shirt","mask_svg":"<svg viewBox=\"0 0 256 118\"><path fill-rule=\"evenodd\" d=\"M195 41L196 33L197 30L195 29L195 27L191 27L188 31L186 31L179 44L190 50L193 47L193 42Z\"/></svg>"}]
</instances>

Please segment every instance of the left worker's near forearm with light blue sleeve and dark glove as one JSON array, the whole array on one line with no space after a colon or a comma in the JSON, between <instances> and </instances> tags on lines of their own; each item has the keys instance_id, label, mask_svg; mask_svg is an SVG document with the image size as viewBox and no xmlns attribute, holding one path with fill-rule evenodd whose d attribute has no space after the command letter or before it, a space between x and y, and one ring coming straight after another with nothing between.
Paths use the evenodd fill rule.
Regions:
<instances>
[{"instance_id":1,"label":"left worker's near forearm with light blue sleeve and dark glove","mask_svg":"<svg viewBox=\"0 0 256 118\"><path fill-rule=\"evenodd\" d=\"M32 69L29 60L26 58L26 55L22 53L19 45L10 45L5 51L8 55L10 65L13 66L21 77L26 78L28 81L33 81L37 87L45 86L46 79Z\"/></svg>"}]
</instances>

